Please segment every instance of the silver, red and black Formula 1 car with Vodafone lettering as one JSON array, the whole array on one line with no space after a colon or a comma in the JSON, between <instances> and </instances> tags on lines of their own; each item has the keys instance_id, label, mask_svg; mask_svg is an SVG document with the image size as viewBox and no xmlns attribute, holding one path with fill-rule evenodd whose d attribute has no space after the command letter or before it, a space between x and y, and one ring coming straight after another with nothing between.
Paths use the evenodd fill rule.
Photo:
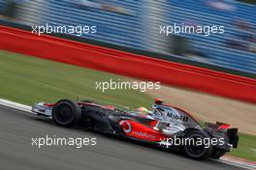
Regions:
<instances>
[{"instance_id":1,"label":"silver, red and black Formula 1 car with Vodafone lettering","mask_svg":"<svg viewBox=\"0 0 256 170\"><path fill-rule=\"evenodd\" d=\"M117 109L90 100L61 99L56 103L40 102L32 113L51 118L56 125L86 128L173 148L195 159L219 158L237 148L238 128L223 123L206 123L203 128L189 113L155 99L152 110Z\"/></svg>"}]
</instances>

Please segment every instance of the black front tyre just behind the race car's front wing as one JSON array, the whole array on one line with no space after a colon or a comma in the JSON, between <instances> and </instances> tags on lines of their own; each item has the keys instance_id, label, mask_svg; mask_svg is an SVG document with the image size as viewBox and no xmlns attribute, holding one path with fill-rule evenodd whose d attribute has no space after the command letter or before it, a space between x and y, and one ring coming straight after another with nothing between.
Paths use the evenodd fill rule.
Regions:
<instances>
[{"instance_id":1,"label":"black front tyre just behind the race car's front wing","mask_svg":"<svg viewBox=\"0 0 256 170\"><path fill-rule=\"evenodd\" d=\"M53 121L61 127L72 127L80 121L80 107L70 99L59 100L52 109Z\"/></svg>"}]
</instances>

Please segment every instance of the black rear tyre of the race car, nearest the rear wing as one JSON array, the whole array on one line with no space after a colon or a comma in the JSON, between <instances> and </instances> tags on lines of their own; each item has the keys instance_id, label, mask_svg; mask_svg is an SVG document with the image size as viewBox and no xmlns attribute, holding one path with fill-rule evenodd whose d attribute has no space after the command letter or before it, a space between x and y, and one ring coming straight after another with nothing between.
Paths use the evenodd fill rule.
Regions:
<instances>
[{"instance_id":1,"label":"black rear tyre of the race car, nearest the rear wing","mask_svg":"<svg viewBox=\"0 0 256 170\"><path fill-rule=\"evenodd\" d=\"M191 141L193 139L195 141L194 143L187 143L186 145L183 146L184 153L187 156L195 159L204 159L208 158L208 156L212 153L212 146L210 146L210 144L206 145L204 144L204 142L200 142L200 140L204 141L204 139L206 138L210 140L210 136L206 131L193 130L186 134L185 138L190 139Z\"/></svg>"}]
</instances>

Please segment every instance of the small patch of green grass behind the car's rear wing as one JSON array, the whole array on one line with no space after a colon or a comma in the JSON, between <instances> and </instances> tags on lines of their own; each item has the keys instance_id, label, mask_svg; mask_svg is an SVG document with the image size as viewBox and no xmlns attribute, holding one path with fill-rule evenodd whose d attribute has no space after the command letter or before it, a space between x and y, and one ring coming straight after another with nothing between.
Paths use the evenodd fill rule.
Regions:
<instances>
[{"instance_id":1,"label":"small patch of green grass behind the car's rear wing","mask_svg":"<svg viewBox=\"0 0 256 170\"><path fill-rule=\"evenodd\" d=\"M230 156L239 156L256 161L256 136L240 133L239 148L234 149Z\"/></svg>"}]
</instances>

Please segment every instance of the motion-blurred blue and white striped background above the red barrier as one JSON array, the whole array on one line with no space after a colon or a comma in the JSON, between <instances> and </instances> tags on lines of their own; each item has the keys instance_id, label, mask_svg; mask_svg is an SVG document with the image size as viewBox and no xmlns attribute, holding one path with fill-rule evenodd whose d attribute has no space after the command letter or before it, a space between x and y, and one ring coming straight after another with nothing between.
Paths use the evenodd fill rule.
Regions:
<instances>
[{"instance_id":1,"label":"motion-blurred blue and white striped background above the red barrier","mask_svg":"<svg viewBox=\"0 0 256 170\"><path fill-rule=\"evenodd\" d=\"M0 0L1 20L21 26L96 25L80 41L194 62L214 70L256 73L255 1ZM223 25L224 34L161 35L160 25ZM67 36L67 35L62 35ZM69 39L77 39L69 35ZM74 37L73 37L74 36ZM205 66L205 65L204 65Z\"/></svg>"}]
</instances>

